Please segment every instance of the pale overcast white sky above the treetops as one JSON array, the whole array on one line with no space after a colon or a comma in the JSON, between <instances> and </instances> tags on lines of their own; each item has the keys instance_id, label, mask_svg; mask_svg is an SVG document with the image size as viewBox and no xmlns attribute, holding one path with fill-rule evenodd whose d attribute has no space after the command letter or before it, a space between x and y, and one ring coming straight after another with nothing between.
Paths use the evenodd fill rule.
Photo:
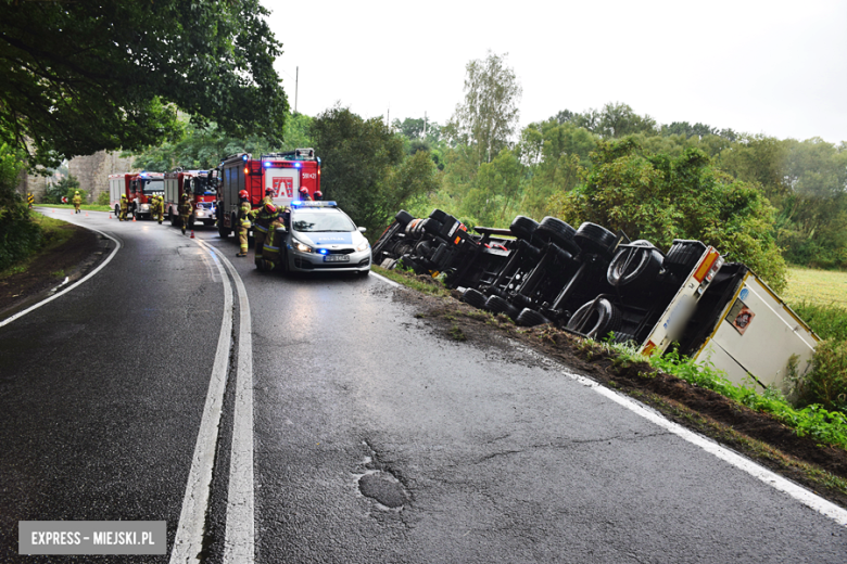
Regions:
<instances>
[{"instance_id":1,"label":"pale overcast white sky above the treetops","mask_svg":"<svg viewBox=\"0 0 847 564\"><path fill-rule=\"evenodd\" d=\"M444 125L490 50L522 86L520 127L621 102L659 124L847 141L844 0L261 1L311 116L340 103Z\"/></svg>"}]
</instances>

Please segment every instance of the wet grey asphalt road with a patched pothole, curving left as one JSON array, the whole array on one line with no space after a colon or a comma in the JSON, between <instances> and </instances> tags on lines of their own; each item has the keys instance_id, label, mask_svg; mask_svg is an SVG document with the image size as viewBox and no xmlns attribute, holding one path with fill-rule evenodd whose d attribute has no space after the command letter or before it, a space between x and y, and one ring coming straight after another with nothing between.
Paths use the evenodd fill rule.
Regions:
<instances>
[{"instance_id":1,"label":"wet grey asphalt road with a patched pothole, curving left","mask_svg":"<svg viewBox=\"0 0 847 564\"><path fill-rule=\"evenodd\" d=\"M17 556L17 522L166 521L181 542L225 336L202 562L847 560L833 518L567 367L441 336L375 275L268 275L212 229L89 216L60 214L114 259L0 326L0 562L168 562Z\"/></svg>"}]
</instances>

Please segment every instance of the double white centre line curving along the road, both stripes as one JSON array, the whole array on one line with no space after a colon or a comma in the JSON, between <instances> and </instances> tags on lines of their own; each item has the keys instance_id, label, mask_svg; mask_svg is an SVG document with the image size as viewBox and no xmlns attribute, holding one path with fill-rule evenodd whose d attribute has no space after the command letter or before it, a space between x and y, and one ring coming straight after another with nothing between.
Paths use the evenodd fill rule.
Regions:
<instances>
[{"instance_id":1,"label":"double white centre line curving along the road, both stripes","mask_svg":"<svg viewBox=\"0 0 847 564\"><path fill-rule=\"evenodd\" d=\"M215 261L224 282L224 320L217 341L215 363L208 384L203 418L200 422L186 497L179 514L179 525L170 551L170 564L200 562L203 536L215 463L215 446L220 426L220 414L226 392L229 351L232 345L232 286L228 270L236 283L239 300L238 363L236 371L236 406L232 447L229 461L229 491L227 493L226 538L224 562L252 564L254 560L253 521L253 342L250 303L238 272L211 245L194 240ZM226 267L226 270L225 270Z\"/></svg>"}]
</instances>

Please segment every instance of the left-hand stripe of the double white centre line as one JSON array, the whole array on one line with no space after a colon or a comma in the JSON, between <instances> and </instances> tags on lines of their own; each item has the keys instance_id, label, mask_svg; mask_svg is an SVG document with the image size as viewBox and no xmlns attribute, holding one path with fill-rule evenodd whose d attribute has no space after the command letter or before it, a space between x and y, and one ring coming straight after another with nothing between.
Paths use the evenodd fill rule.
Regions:
<instances>
[{"instance_id":1,"label":"left-hand stripe of the double white centre line","mask_svg":"<svg viewBox=\"0 0 847 564\"><path fill-rule=\"evenodd\" d=\"M182 500L179 525L174 538L174 548L170 551L170 564L200 562L212 487L212 469L215 464L215 447L220 425L220 412L224 407L227 369L229 368L229 348L232 344L232 286L217 256L215 254L211 254L211 256L217 265L220 279L224 282L224 320L220 323L212 379L208 382L203 418L200 421L200 432L191 460L191 470L188 474L186 497Z\"/></svg>"}]
</instances>

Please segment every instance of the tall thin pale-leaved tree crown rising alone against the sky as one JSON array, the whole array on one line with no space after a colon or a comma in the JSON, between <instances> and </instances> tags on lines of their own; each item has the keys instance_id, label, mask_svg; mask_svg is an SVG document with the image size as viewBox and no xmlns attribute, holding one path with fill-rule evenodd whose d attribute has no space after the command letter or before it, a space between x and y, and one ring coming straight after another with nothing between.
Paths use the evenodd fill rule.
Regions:
<instances>
[{"instance_id":1,"label":"tall thin pale-leaved tree crown rising alone against the sky","mask_svg":"<svg viewBox=\"0 0 847 564\"><path fill-rule=\"evenodd\" d=\"M490 163L503 149L518 123L518 102L522 89L515 72L505 66L505 57L489 51L488 57L465 67L465 102L445 126L444 133L454 143L473 148L473 163Z\"/></svg>"}]
</instances>

